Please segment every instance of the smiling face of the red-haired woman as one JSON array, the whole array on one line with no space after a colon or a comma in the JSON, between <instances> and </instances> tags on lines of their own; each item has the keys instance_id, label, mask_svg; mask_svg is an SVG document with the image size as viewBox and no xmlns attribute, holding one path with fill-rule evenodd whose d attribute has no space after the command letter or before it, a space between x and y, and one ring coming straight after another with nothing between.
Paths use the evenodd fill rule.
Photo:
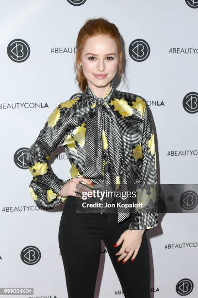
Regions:
<instances>
[{"instance_id":1,"label":"smiling face of the red-haired woman","mask_svg":"<svg viewBox=\"0 0 198 298\"><path fill-rule=\"evenodd\" d=\"M89 86L107 86L117 72L115 40L108 36L88 38L82 51L81 64Z\"/></svg>"}]
</instances>

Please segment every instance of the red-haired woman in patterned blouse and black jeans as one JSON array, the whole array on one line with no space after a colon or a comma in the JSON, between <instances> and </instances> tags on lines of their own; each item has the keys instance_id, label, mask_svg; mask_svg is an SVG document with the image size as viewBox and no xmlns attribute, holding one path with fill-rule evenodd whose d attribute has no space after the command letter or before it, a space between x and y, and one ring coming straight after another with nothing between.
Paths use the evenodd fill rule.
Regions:
<instances>
[{"instance_id":1,"label":"red-haired woman in patterned blouse and black jeans","mask_svg":"<svg viewBox=\"0 0 198 298\"><path fill-rule=\"evenodd\" d=\"M27 163L33 175L31 195L42 206L65 202L59 246L69 298L94 297L101 239L124 296L149 298L145 230L158 225L159 197L148 104L142 96L115 89L112 80L117 71L122 74L123 57L115 24L101 18L87 20L78 34L76 48L76 79L82 94L56 107L28 150ZM59 179L48 164L50 154L61 146L72 165L71 178L66 181ZM135 202L139 205L135 212L127 204L112 204L130 203L129 198L124 201L94 196L96 189L121 189L124 193L130 185L137 186ZM76 204L84 202L82 194L88 191L93 201L99 198L112 207L101 204L98 213L76 212Z\"/></svg>"}]
</instances>

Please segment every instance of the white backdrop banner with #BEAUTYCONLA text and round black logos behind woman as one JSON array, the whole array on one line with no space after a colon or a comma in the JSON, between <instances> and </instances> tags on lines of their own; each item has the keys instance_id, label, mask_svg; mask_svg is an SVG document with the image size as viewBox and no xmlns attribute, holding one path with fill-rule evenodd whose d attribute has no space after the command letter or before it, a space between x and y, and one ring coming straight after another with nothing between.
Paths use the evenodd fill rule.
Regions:
<instances>
[{"instance_id":1,"label":"white backdrop banner with #BEAUTYCONLA text and round black logos behind woman","mask_svg":"<svg viewBox=\"0 0 198 298\"><path fill-rule=\"evenodd\" d=\"M33 288L17 297L67 297L58 244L64 203L35 205L26 156L50 113L79 92L76 38L87 19L100 17L115 23L124 41L125 75L116 89L143 96L150 107L160 183L182 186L186 206L197 204L198 0L0 0L2 297L9 297L2 288ZM70 178L64 148L50 164L59 178ZM152 298L198 297L197 226L196 212L172 212L146 232ZM101 242L95 297L115 296L124 294Z\"/></svg>"}]
</instances>

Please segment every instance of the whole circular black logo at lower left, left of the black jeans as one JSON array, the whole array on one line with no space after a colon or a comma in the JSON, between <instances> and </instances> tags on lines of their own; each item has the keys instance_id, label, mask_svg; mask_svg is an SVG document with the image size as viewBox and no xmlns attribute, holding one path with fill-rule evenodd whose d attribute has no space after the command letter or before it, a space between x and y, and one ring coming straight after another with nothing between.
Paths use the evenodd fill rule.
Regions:
<instances>
[{"instance_id":1,"label":"whole circular black logo at lower left, left of the black jeans","mask_svg":"<svg viewBox=\"0 0 198 298\"><path fill-rule=\"evenodd\" d=\"M41 252L36 246L29 245L22 249L20 257L25 264L34 265L40 261Z\"/></svg>"}]
</instances>

